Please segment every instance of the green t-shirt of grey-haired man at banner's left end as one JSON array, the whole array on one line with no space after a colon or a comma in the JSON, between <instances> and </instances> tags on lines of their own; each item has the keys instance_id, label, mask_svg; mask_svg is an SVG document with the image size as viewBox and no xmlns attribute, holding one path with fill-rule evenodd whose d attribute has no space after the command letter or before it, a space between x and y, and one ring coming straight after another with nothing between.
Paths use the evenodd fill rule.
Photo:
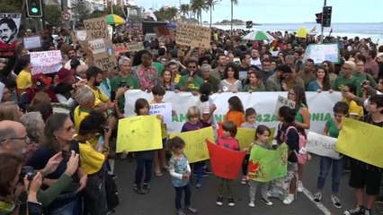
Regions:
<instances>
[{"instance_id":1,"label":"green t-shirt of grey-haired man at banner's left end","mask_svg":"<svg viewBox=\"0 0 383 215\"><path fill-rule=\"evenodd\" d=\"M138 78L134 74L129 74L128 77L123 78L120 73L111 79L111 91L116 92L120 88L120 82L126 82L126 85L129 85L129 89L139 89L141 86L139 84ZM120 97L118 99L118 105L121 113L124 113L125 107L125 97Z\"/></svg>"}]
</instances>

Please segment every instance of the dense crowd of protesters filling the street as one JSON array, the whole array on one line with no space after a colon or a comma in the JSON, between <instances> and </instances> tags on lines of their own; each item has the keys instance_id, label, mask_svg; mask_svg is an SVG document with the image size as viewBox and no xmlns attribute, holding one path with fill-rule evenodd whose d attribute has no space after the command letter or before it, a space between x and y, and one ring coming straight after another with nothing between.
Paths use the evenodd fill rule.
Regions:
<instances>
[{"instance_id":1,"label":"dense crowd of protesters filling the street","mask_svg":"<svg viewBox=\"0 0 383 215\"><path fill-rule=\"evenodd\" d=\"M0 58L0 81L4 83L0 104L0 214L111 213L115 204L108 201L111 196L105 188L112 177L108 159L117 158L113 142L118 121L125 117L127 90L153 94L151 101L135 102L137 116L147 116L149 104L164 102L169 90L198 96L181 132L212 125L214 112L222 105L214 104L212 93L286 91L296 106L279 109L281 124L275 139L277 146L286 142L289 151L299 150L300 138L306 138L310 128L306 91L343 94L343 100L334 104L334 118L324 125L325 135L338 136L343 116L383 127L383 46L370 39L325 39L340 43L341 62L314 64L313 59L303 61L303 54L316 39L298 39L289 32L272 32L275 40L268 44L243 41L241 30L212 30L211 47L199 48L177 46L172 39L143 41L142 34L124 30L122 34L128 34L129 41L144 42L146 49L116 56L118 65L104 71L94 65L92 47L70 38L65 30L55 32L52 28L42 35L41 48L27 50L18 43L14 56ZM60 37L53 39L53 33ZM114 39L119 41L123 35ZM63 66L57 73L32 75L29 53L44 50L60 50ZM275 51L277 56L272 55ZM254 145L272 150L268 144L270 128L255 122L257 107L244 107L233 95L227 100L229 111L222 124L223 133L217 137L218 145L239 150L237 127L248 127L256 134L245 150L251 151ZM68 114L54 113L54 103L67 107ZM149 193L152 174L163 176L166 169L175 189L176 213L195 213L190 179L196 175L193 185L200 188L202 176L211 174L209 162L193 163L191 168L183 153L185 142L179 137L168 140L163 121L161 133L162 150L134 153L137 169L133 190ZM173 152L170 159L166 151ZM128 153L123 151L120 158L125 159ZM248 160L245 157L241 184L250 185L249 193L242 193L249 196L249 207L255 205L257 186L261 186L262 202L267 205L272 205L272 198L290 204L296 193L303 191L304 164L298 162L295 153L289 153L287 176L269 183L249 180ZM371 214L381 189L382 168L343 155L339 159L321 157L314 200L321 202L325 178L333 165L331 201L334 207L342 207L337 193L346 163L350 163L349 185L356 189L357 207L344 214ZM231 179L218 177L219 206L224 203L224 193L228 206L235 206L232 183Z\"/></svg>"}]
</instances>

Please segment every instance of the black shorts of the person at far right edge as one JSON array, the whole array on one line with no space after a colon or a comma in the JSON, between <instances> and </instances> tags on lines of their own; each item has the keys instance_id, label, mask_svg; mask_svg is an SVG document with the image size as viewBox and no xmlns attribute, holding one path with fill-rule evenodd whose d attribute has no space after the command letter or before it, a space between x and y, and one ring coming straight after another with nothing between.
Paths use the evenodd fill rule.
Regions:
<instances>
[{"instance_id":1,"label":"black shorts of the person at far right edge","mask_svg":"<svg viewBox=\"0 0 383 215\"><path fill-rule=\"evenodd\" d=\"M379 168L361 168L352 165L349 185L353 188L366 188L366 194L379 195L382 171Z\"/></svg>"}]
</instances>

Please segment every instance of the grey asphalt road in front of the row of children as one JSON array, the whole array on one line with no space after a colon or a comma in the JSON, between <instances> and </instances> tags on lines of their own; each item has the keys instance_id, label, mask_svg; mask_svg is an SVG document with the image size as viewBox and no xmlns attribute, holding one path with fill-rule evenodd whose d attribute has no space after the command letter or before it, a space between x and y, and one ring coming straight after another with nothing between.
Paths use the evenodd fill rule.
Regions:
<instances>
[{"instance_id":1,"label":"grey asphalt road in front of the row of children","mask_svg":"<svg viewBox=\"0 0 383 215\"><path fill-rule=\"evenodd\" d=\"M114 172L118 175L117 185L120 194L120 205L116 208L117 215L122 214L174 214L174 187L168 173L162 177L153 176L150 193L139 195L133 191L134 171L136 163L134 159L116 160ZM214 176L203 178L200 189L192 187L191 204L199 210L198 214L343 214L343 211L355 207L355 194L348 186L348 177L345 173L342 177L339 198L343 203L342 209L336 209L330 201L331 177L327 178L327 184L323 193L323 206L317 205L307 197L309 193L316 192L316 177L319 170L319 158L313 157L304 169L303 184L305 193L298 193L298 199L290 205L284 205L278 199L271 199L274 203L267 206L260 201L259 194L255 201L255 208L250 208L247 203L248 186L240 185L239 179L234 185L235 207L227 204L217 206L217 184ZM319 209L321 208L321 209Z\"/></svg>"}]
</instances>

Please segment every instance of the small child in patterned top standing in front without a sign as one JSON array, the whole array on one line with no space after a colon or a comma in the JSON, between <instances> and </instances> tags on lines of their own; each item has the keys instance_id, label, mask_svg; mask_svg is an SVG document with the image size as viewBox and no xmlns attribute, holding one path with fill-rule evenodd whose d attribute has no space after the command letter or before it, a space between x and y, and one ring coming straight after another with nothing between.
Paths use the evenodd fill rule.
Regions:
<instances>
[{"instance_id":1,"label":"small child in patterned top standing in front without a sign","mask_svg":"<svg viewBox=\"0 0 383 215\"><path fill-rule=\"evenodd\" d=\"M183 154L184 147L185 142L178 136L171 139L168 144L168 149L173 151L172 158L169 159L169 172L175 189L175 210L177 215L185 214L181 209L183 192L185 193L185 211L197 212L196 209L191 208L191 184L189 180L191 167L185 154Z\"/></svg>"}]
</instances>

